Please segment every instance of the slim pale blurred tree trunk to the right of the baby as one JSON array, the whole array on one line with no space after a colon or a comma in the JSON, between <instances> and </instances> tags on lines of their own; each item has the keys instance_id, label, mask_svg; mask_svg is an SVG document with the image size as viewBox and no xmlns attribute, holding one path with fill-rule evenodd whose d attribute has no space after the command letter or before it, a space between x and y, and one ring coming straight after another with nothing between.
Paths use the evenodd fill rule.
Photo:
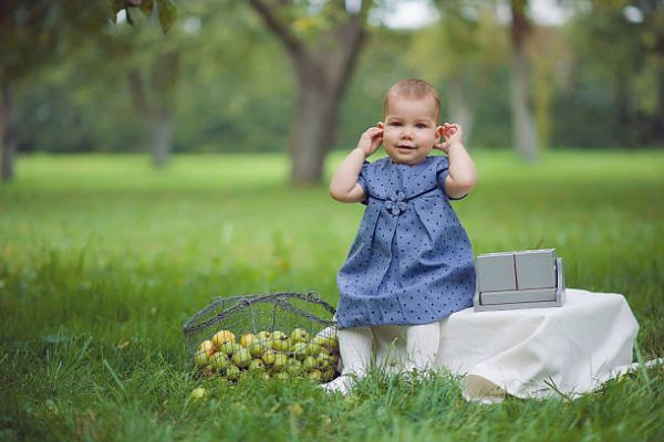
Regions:
<instances>
[{"instance_id":1,"label":"slim pale blurred tree trunk to the right of the baby","mask_svg":"<svg viewBox=\"0 0 664 442\"><path fill-rule=\"evenodd\" d=\"M515 148L527 161L538 159L537 126L530 106L530 65L526 54L526 41L530 23L526 17L527 0L512 0L511 28L511 114Z\"/></svg>"}]
</instances>

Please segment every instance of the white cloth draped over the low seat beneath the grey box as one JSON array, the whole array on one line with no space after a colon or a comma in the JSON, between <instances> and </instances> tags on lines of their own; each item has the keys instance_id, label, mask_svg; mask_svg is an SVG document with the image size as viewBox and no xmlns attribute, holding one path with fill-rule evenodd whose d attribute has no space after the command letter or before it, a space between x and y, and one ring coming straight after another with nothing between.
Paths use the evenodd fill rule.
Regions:
<instances>
[{"instance_id":1,"label":"white cloth draped over the low seat beneath the grey box","mask_svg":"<svg viewBox=\"0 0 664 442\"><path fill-rule=\"evenodd\" d=\"M624 296L574 288L567 290L562 307L467 308L439 324L434 368L463 375L464 397L483 402L500 401L506 394L577 398L596 390L632 362L639 332ZM405 329L372 327L378 367L404 369Z\"/></svg>"}]
</instances>

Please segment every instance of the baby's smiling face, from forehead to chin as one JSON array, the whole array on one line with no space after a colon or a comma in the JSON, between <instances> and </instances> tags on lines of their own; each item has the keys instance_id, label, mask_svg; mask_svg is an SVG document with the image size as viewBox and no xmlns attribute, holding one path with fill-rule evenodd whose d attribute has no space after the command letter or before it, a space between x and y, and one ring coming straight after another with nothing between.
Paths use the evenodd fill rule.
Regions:
<instances>
[{"instance_id":1,"label":"baby's smiling face, from forehead to chin","mask_svg":"<svg viewBox=\"0 0 664 442\"><path fill-rule=\"evenodd\" d=\"M383 146L394 162L416 165L424 161L434 144L440 138L437 125L436 102L424 98L390 98L385 110Z\"/></svg>"}]
</instances>

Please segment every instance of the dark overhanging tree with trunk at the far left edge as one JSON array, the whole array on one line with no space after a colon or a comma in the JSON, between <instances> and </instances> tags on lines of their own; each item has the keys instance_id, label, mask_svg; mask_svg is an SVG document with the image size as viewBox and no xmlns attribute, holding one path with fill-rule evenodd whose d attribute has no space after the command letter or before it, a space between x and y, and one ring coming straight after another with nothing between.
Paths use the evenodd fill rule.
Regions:
<instances>
[{"instance_id":1,"label":"dark overhanging tree with trunk at the far left edge","mask_svg":"<svg viewBox=\"0 0 664 442\"><path fill-rule=\"evenodd\" d=\"M103 35L118 10L128 11L138 6L148 14L158 14L164 30L170 27L175 17L170 0L6 0L0 3L0 173L3 181L14 176L17 85L71 54L83 39Z\"/></svg>"}]
</instances>

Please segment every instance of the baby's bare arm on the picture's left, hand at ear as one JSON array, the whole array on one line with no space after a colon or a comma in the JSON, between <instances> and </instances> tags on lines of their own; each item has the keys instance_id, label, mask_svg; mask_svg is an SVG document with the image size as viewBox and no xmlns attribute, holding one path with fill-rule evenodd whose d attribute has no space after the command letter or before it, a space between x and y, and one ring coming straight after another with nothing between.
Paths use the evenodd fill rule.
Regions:
<instances>
[{"instance_id":1,"label":"baby's bare arm on the picture's left, hand at ear","mask_svg":"<svg viewBox=\"0 0 664 442\"><path fill-rule=\"evenodd\" d=\"M341 202L360 202L366 198L357 182L364 160L376 151L383 141L383 129L369 128L362 134L357 147L341 162L330 181L330 196Z\"/></svg>"}]
</instances>

